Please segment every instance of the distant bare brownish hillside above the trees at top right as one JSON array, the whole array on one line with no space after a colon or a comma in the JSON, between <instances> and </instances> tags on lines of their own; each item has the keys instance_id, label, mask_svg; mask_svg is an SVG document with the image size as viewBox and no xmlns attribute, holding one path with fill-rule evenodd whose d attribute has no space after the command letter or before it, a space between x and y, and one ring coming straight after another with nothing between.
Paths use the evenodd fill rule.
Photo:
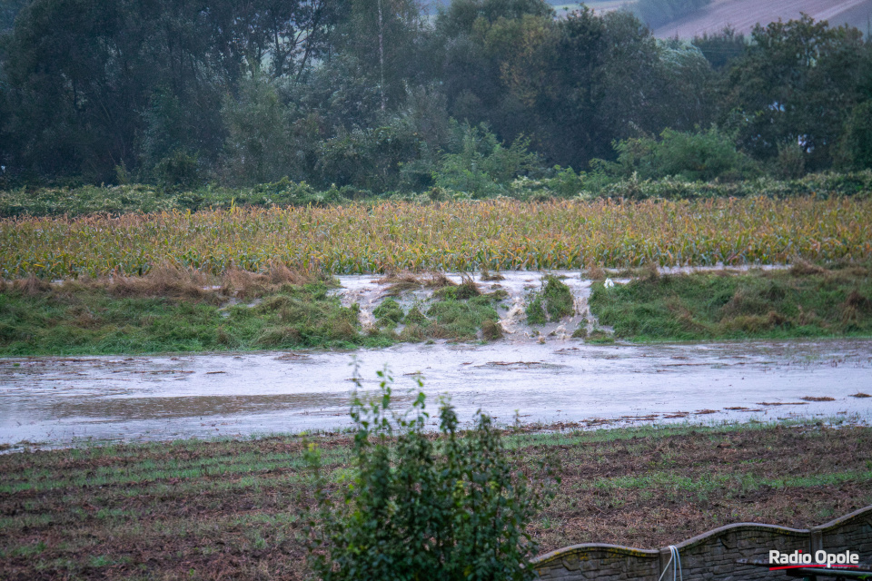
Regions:
<instances>
[{"instance_id":1,"label":"distant bare brownish hillside above the trees at top right","mask_svg":"<svg viewBox=\"0 0 872 581\"><path fill-rule=\"evenodd\" d=\"M780 18L787 21L805 13L830 25L851 25L864 34L872 28L872 0L714 0L695 15L676 20L654 30L658 38L693 38L703 33L717 34L730 25L748 33L758 23L768 25Z\"/></svg>"}]
</instances>

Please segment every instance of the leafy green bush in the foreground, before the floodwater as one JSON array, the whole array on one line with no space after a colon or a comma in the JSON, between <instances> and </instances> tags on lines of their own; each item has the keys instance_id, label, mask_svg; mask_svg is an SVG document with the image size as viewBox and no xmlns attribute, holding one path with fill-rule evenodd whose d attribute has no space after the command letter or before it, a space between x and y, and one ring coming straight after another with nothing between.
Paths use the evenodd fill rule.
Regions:
<instances>
[{"instance_id":1,"label":"leafy green bush in the foreground, before the floodwater","mask_svg":"<svg viewBox=\"0 0 872 581\"><path fill-rule=\"evenodd\" d=\"M351 482L332 492L321 452L310 444L317 507L309 517L309 564L323 581L528 580L536 542L530 521L553 497L552 469L526 473L507 458L500 431L483 414L458 432L451 406L440 437L425 428L419 393L404 415L391 410L391 377L381 396L355 395ZM358 382L360 386L360 382ZM421 379L418 379L421 387Z\"/></svg>"}]
</instances>

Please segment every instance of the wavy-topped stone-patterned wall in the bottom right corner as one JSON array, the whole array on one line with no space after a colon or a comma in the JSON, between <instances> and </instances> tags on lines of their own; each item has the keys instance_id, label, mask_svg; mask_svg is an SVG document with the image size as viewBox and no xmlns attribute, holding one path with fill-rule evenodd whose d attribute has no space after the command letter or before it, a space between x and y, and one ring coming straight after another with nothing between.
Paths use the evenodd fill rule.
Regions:
<instances>
[{"instance_id":1,"label":"wavy-topped stone-patterned wall in the bottom right corner","mask_svg":"<svg viewBox=\"0 0 872 581\"><path fill-rule=\"evenodd\" d=\"M859 553L861 562L868 563L872 561L872 507L810 529L753 523L728 525L675 547L679 551L684 581L772 581L768 568L736 562L742 558L768 561L770 549L782 553L797 549L826 549L830 553L850 550ZM540 556L533 565L543 580L659 581L663 574L662 581L678 581L672 577L670 555L669 547L646 550L586 543Z\"/></svg>"}]
</instances>

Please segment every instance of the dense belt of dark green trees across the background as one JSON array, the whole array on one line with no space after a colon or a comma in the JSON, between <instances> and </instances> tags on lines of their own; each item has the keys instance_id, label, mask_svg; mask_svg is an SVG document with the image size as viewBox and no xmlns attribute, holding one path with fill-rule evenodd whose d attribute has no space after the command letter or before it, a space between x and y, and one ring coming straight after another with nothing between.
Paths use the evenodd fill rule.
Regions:
<instances>
[{"instance_id":1,"label":"dense belt of dark green trees across the background","mask_svg":"<svg viewBox=\"0 0 872 581\"><path fill-rule=\"evenodd\" d=\"M654 24L707 2L635 6ZM411 0L0 3L0 26L13 16L2 188L287 177L316 203L540 200L608 186L597 160L632 140L642 181L870 166L872 51L808 17L691 43L627 10L555 18L542 0L456 0L435 21Z\"/></svg>"}]
</instances>

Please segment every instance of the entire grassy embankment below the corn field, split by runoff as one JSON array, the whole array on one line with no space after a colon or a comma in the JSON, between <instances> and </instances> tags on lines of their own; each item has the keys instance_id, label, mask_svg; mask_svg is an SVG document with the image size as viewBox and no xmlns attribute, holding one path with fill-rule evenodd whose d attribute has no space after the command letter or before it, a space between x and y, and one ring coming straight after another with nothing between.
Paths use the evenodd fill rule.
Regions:
<instances>
[{"instance_id":1,"label":"entire grassy embankment below the corn field, split by runoff","mask_svg":"<svg viewBox=\"0 0 872 581\"><path fill-rule=\"evenodd\" d=\"M798 262L789 270L659 275L607 289L595 282L597 317L575 339L731 340L872 335L872 266ZM384 347L397 341L499 340L504 290L471 279L405 272L382 279L390 296L362 326L357 304L343 306L330 276L273 263L263 273L160 267L143 277L50 284L0 281L0 356L104 355L220 350ZM431 289L429 299L410 292ZM415 295L420 297L420 295ZM574 313L569 287L543 278L528 297L527 322ZM364 318L365 319L365 318ZM599 327L608 325L614 334Z\"/></svg>"}]
</instances>

